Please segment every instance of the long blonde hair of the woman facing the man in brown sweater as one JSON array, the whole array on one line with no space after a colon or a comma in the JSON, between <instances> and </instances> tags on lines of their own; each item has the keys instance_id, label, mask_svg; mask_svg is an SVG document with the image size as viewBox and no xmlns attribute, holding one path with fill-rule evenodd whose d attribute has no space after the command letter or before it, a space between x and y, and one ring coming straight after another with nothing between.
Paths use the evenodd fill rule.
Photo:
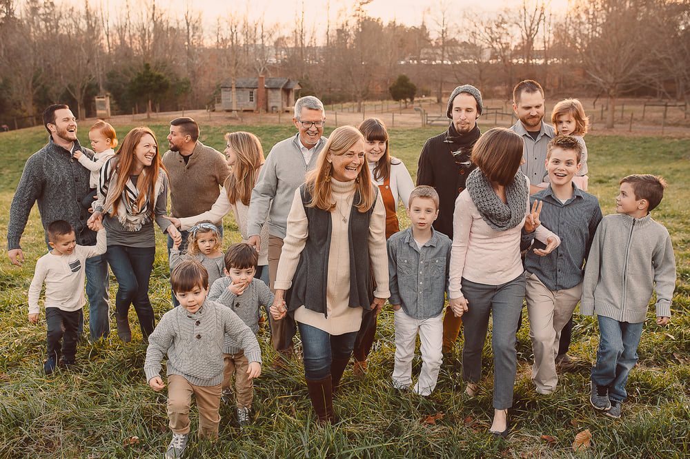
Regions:
<instances>
[{"instance_id":1,"label":"long blonde hair of the woman facing the man in brown sweater","mask_svg":"<svg viewBox=\"0 0 690 459\"><path fill-rule=\"evenodd\" d=\"M225 181L228 201L233 204L242 201L242 204L249 205L249 198L259 178L259 168L264 164L264 150L257 136L251 132L228 132L225 140L237 156L233 170Z\"/></svg>"}]
</instances>

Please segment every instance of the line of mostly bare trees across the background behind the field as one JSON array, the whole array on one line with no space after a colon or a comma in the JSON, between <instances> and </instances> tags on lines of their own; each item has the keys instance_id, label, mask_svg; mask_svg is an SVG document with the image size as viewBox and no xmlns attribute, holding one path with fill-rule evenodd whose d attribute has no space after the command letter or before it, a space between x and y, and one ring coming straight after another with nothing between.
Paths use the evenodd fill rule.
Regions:
<instances>
[{"instance_id":1,"label":"line of mostly bare trees across the background behind the field","mask_svg":"<svg viewBox=\"0 0 690 459\"><path fill-rule=\"evenodd\" d=\"M412 26L369 17L370 2L318 3L324 30L306 19L313 4L304 1L270 23L249 1L211 18L160 0L125 0L115 13L94 0L0 0L0 123L34 125L55 101L95 116L99 94L110 94L114 114L203 108L222 83L259 74L359 108L389 99L400 74L439 101L460 83L509 98L532 78L549 94L600 99L611 126L622 95L688 101L690 0L572 0L564 14L546 0L494 12L440 0Z\"/></svg>"}]
</instances>

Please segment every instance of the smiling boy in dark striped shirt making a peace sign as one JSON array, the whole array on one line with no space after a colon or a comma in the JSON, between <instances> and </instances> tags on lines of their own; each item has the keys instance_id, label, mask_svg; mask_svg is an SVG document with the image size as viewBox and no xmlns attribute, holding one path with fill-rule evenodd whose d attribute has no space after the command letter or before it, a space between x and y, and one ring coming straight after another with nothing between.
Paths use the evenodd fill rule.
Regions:
<instances>
[{"instance_id":1,"label":"smiling boy in dark striped shirt making a peace sign","mask_svg":"<svg viewBox=\"0 0 690 459\"><path fill-rule=\"evenodd\" d=\"M540 394L551 394L558 384L555 359L561 331L582 296L582 265L602 219L597 197L573 183L580 170L582 144L573 136L562 135L546 148L550 183L530 196L530 201L541 203L541 224L558 234L562 242L550 254L528 250L524 258L524 296L534 353L532 382ZM535 245L544 247L539 241Z\"/></svg>"}]
</instances>

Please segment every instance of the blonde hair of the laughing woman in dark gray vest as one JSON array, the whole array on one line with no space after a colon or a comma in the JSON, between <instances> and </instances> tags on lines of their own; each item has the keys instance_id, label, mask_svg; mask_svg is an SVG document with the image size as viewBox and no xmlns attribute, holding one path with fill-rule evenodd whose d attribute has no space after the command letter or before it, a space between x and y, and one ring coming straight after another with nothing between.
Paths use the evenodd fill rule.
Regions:
<instances>
[{"instance_id":1,"label":"blonde hair of the laughing woman in dark gray vest","mask_svg":"<svg viewBox=\"0 0 690 459\"><path fill-rule=\"evenodd\" d=\"M364 136L353 126L341 126L328 136L328 142L319 153L316 167L306 176L306 190L311 194L311 201L307 207L318 207L321 210L332 212L335 203L331 198L333 187L331 185L331 174L333 164L327 161L328 153L341 156L346 154L357 142L364 143ZM367 212L375 204L375 190L369 176L369 167L366 165L366 158L359 169L355 188L359 192L359 203L355 205L359 212Z\"/></svg>"}]
</instances>

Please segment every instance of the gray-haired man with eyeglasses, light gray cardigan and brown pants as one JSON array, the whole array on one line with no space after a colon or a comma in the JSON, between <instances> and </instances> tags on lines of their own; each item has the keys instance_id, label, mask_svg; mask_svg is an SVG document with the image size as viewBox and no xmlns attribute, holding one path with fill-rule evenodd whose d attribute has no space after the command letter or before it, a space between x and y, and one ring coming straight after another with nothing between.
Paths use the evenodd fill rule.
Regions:
<instances>
[{"instance_id":1,"label":"gray-haired man with eyeglasses, light gray cardigan and brown pants","mask_svg":"<svg viewBox=\"0 0 690 459\"><path fill-rule=\"evenodd\" d=\"M319 152L326 144L327 139L323 136L325 121L324 104L319 99L314 96L297 99L293 122L298 132L273 145L252 191L247 222L248 242L258 251L262 225L268 224L268 286L271 290L295 190L304 183L306 173L315 167ZM273 349L282 357L273 364L273 368L280 368L293 354L295 321L289 316L280 320L269 316L269 320Z\"/></svg>"}]
</instances>

